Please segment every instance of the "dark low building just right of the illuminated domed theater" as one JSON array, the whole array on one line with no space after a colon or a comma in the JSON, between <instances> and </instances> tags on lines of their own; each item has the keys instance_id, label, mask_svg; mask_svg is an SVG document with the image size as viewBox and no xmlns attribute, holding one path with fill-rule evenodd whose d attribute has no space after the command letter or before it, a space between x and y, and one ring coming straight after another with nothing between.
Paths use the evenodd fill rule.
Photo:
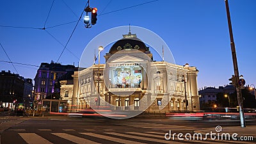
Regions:
<instances>
[{"instance_id":1,"label":"dark low building just right of the illuminated domed theater","mask_svg":"<svg viewBox=\"0 0 256 144\"><path fill-rule=\"evenodd\" d=\"M217 93L234 93L236 92L236 88L232 85L219 86L219 88L215 87L204 87L200 88L198 94L200 95L200 106L206 103L216 102L217 101Z\"/></svg>"}]
</instances>

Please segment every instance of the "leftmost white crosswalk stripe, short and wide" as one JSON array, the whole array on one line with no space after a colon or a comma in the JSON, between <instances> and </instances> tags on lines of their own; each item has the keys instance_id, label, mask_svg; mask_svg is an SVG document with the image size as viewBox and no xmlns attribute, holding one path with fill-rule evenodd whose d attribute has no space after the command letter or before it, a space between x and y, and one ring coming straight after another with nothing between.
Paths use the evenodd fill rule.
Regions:
<instances>
[{"instance_id":1,"label":"leftmost white crosswalk stripe, short and wide","mask_svg":"<svg viewBox=\"0 0 256 144\"><path fill-rule=\"evenodd\" d=\"M35 133L18 133L28 144L53 144Z\"/></svg>"}]
</instances>

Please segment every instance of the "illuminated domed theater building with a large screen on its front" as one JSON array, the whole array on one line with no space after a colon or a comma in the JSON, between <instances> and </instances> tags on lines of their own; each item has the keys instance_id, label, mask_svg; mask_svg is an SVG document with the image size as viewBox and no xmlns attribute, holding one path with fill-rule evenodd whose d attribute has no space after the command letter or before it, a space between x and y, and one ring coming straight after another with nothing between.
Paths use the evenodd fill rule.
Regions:
<instances>
[{"instance_id":1,"label":"illuminated domed theater building with a large screen on its front","mask_svg":"<svg viewBox=\"0 0 256 144\"><path fill-rule=\"evenodd\" d=\"M200 110L196 67L153 61L149 47L135 34L123 36L104 56L106 64L74 72L73 105L110 106L122 111L184 111L187 97L188 111Z\"/></svg>"}]
</instances>

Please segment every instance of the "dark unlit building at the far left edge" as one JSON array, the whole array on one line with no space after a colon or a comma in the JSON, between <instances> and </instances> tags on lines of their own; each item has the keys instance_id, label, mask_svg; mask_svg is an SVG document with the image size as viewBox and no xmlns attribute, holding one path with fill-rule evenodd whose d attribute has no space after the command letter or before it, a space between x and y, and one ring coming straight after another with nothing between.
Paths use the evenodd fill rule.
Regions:
<instances>
[{"instance_id":1,"label":"dark unlit building at the far left edge","mask_svg":"<svg viewBox=\"0 0 256 144\"><path fill-rule=\"evenodd\" d=\"M0 101L1 107L11 108L13 102L24 102L23 97L31 95L32 79L24 79L10 70L0 72ZM30 92L29 92L30 91Z\"/></svg>"}]
</instances>

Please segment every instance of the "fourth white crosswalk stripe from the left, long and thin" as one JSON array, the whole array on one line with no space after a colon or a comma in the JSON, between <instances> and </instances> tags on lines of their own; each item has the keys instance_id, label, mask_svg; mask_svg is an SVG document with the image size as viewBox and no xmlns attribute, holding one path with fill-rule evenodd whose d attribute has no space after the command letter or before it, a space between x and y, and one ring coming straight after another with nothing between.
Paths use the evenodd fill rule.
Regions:
<instances>
[{"instance_id":1,"label":"fourth white crosswalk stripe from the left, long and thin","mask_svg":"<svg viewBox=\"0 0 256 144\"><path fill-rule=\"evenodd\" d=\"M155 141L157 143L170 143L170 141L166 141L166 140L158 140L158 139L154 139L154 138L145 138L145 137L141 137L141 136L132 136L132 135L120 134L120 133L116 133L116 132L104 132L104 133L115 135L115 136L122 136L122 137L125 137L125 138L134 138L134 139L137 139L137 140ZM175 141L172 141L172 143L178 144Z\"/></svg>"}]
</instances>

